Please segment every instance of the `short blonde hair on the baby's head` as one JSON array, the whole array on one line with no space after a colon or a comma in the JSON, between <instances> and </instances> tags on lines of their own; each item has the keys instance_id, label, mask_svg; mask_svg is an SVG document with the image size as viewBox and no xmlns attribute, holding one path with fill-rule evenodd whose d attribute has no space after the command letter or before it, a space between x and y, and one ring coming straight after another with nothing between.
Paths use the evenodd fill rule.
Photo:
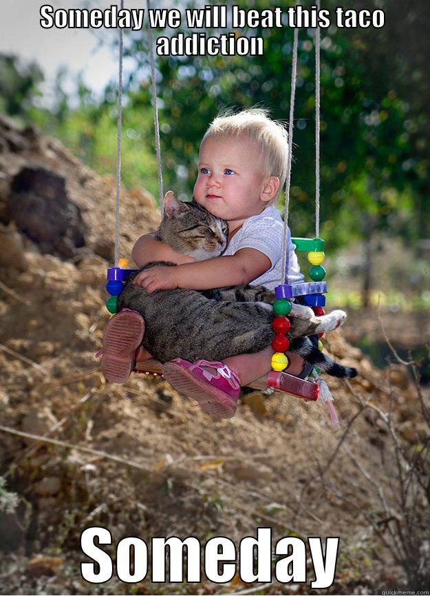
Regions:
<instances>
[{"instance_id":1,"label":"short blonde hair on the baby's head","mask_svg":"<svg viewBox=\"0 0 430 596\"><path fill-rule=\"evenodd\" d=\"M288 161L288 132L281 123L268 117L268 110L250 108L241 112L219 114L206 131L202 143L208 138L246 138L259 146L260 165L265 176L277 176L279 189L270 205L279 199L286 181Z\"/></svg>"}]
</instances>

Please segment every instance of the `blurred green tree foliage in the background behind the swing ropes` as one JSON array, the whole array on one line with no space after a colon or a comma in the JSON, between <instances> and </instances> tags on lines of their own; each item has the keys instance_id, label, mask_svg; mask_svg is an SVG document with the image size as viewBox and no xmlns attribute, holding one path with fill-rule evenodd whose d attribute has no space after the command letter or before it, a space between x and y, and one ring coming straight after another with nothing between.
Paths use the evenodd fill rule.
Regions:
<instances>
[{"instance_id":1,"label":"blurred green tree foliage in the background behind the swing ropes","mask_svg":"<svg viewBox=\"0 0 430 596\"><path fill-rule=\"evenodd\" d=\"M323 4L333 15L337 2ZM331 249L375 232L400 236L408 243L430 237L430 3L360 4L383 8L385 26L333 25L321 30L321 236L330 240ZM237 6L268 8L264 0ZM277 6L286 8L292 1L280 0ZM189 7L195 8L195 3ZM345 0L343 7L357 8L352 0ZM186 33L186 28L162 34L181 31ZM200 139L220 110L258 105L267 107L275 119L288 119L292 30L241 29L237 34L264 37L264 56L157 58L164 186L183 196L191 196ZM127 32L125 39L125 56L135 68L125 81L122 179L156 195L145 38L141 32ZM13 72L11 60L3 57L1 72L3 63ZM33 101L41 73L32 68L30 75L17 66L15 76L1 77L6 82L0 87L0 105L61 138L98 172L114 173L116 82L96 100L78 80L78 105L70 107L63 91L69 75L63 70L58 73L56 106L47 112ZM113 80L115 76L113 65ZM314 104L314 30L301 29L290 202L294 236L314 234Z\"/></svg>"}]
</instances>

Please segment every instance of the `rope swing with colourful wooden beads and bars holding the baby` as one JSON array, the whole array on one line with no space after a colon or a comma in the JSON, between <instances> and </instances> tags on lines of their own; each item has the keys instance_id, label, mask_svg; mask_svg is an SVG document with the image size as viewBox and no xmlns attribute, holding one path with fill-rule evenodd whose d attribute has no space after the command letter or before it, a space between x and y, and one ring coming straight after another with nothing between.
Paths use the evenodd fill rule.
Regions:
<instances>
[{"instance_id":1,"label":"rope swing with colourful wooden beads and bars holding the baby","mask_svg":"<svg viewBox=\"0 0 430 596\"><path fill-rule=\"evenodd\" d=\"M123 0L121 0L121 6ZM147 7L149 7L149 0L147 0ZM163 212L164 194L162 183L162 167L161 167L161 152L160 152L160 130L158 123L158 103L157 93L155 88L155 63L153 56L153 39L151 28L148 30L149 36L149 60L151 65L151 92L153 99L153 116L155 129L155 150L157 156L158 169L158 189L160 196L160 211ZM291 179L291 163L292 163L292 130L294 118L294 97L297 80L297 45L298 45L298 29L294 29L294 44L292 54L292 84L290 96L290 123L288 134L288 165L286 175L286 200L285 200L285 214L284 214L284 234L283 234L283 262L282 271L288 270L288 251L287 251L287 234L288 234L288 207L290 202L290 179ZM290 285L283 283L275 288L275 303L273 311L276 315L272 323L272 327L276 333L272 341L272 348L275 353L272 356L272 371L268 376L261 377L254 382L248 384L248 387L253 389L265 390L268 387L279 389L283 392L290 393L298 398L303 398L308 401L316 401L319 395L319 384L314 381L303 380L283 372L288 367L288 358L285 354L288 351L290 342L286 337L286 333L290 329L290 321L288 314L291 310L291 298L303 297L305 305L308 305L314 311L316 316L325 314L323 307L325 306L325 294L327 292L327 282L323 281L325 277L325 269L321 266L324 260L324 240L319 238L319 128L320 128L320 31L316 29L316 234L315 238L291 238L292 243L296 246L297 251L305 251L308 253L308 261L310 263L309 277L311 281L297 283ZM110 294L106 302L108 311L111 314L116 314L116 302L124 287L127 276L136 271L136 269L121 269L118 267L119 263L119 207L120 207L120 165L121 165L121 123L122 123L122 57L123 57L123 34L120 31L120 51L119 51L119 81L118 81L118 141L117 141L117 165L116 165L116 234L115 234L115 266L107 269L107 292ZM323 335L322 333L320 335ZM320 349L322 348L319 342ZM151 376L162 376L162 364L158 360L144 360L136 363L134 372L143 373ZM272 391L273 391L272 389Z\"/></svg>"}]
</instances>

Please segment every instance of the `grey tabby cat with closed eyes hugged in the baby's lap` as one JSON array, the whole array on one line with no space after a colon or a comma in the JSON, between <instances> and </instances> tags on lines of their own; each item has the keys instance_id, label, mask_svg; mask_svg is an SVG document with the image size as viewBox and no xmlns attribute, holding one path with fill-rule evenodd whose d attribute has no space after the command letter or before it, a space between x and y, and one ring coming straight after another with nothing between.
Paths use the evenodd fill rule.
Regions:
<instances>
[{"instance_id":1,"label":"grey tabby cat with closed eyes hugged in the baby's lap","mask_svg":"<svg viewBox=\"0 0 430 596\"><path fill-rule=\"evenodd\" d=\"M175 251L199 260L222 254L226 247L228 225L197 203L182 203L173 192L166 194L164 219L158 238ZM157 261L142 269L174 263ZM140 269L140 271L142 271ZM261 286L239 285L228 288L194 290L155 290L152 294L132 281L130 274L118 298L118 310L138 311L146 322L143 346L160 362L184 358L194 362L223 360L228 356L260 351L275 336L270 306L275 292ZM333 311L316 317L312 309L293 305L289 318L290 351L299 354L328 374L354 377L356 369L342 367L327 358L310 338L313 333L335 329L346 314Z\"/></svg>"}]
</instances>

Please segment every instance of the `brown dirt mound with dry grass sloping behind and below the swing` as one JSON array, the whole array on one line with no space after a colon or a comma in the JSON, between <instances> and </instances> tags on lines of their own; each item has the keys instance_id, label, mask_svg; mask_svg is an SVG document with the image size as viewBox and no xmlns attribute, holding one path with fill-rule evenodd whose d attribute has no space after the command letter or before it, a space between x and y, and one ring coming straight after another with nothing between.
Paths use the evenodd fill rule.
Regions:
<instances>
[{"instance_id":1,"label":"brown dirt mound with dry grass sloping behind and below the swing","mask_svg":"<svg viewBox=\"0 0 430 596\"><path fill-rule=\"evenodd\" d=\"M109 528L114 540L139 535L147 542L169 535L205 542L217 535L238 543L257 526L272 526L276 538L335 535L341 537L336 593L399 586L404 575L385 540L400 541L389 515L399 527L404 523L398 452L391 422L378 411L391 411L405 452L422 446L428 430L420 418L426 398L404 368L378 371L341 333L330 333L326 349L360 373L352 383L329 379L339 429L325 408L289 396L244 395L235 418L224 421L160 378L136 375L123 386L107 384L94 353L107 320L114 181L90 172L58 141L3 119L0 147L0 234L8 247L0 260L0 418L9 429L0 429L0 471L8 490L21 497L14 513L0 512L8 533L0 593L89 593L94 588L79 573L79 536L94 525ZM86 252L78 262L76 254L61 260L64 253L54 246L57 254L42 254L46 245L12 217L12 181L27 168L54 172L48 175L53 183L65 181L62 196L82 217ZM134 189L122 191L121 215L129 256L133 238L154 229L158 214L153 198ZM409 531L422 542L411 520ZM243 587L237 576L223 589ZM155 588L149 580L138 586L140 593ZM125 588L112 579L103 590ZM219 586L203 580L199 590L214 593ZM275 582L270 591L283 593L283 586Z\"/></svg>"}]
</instances>

